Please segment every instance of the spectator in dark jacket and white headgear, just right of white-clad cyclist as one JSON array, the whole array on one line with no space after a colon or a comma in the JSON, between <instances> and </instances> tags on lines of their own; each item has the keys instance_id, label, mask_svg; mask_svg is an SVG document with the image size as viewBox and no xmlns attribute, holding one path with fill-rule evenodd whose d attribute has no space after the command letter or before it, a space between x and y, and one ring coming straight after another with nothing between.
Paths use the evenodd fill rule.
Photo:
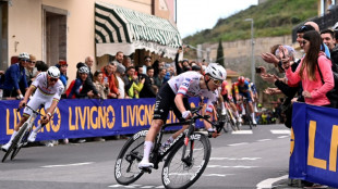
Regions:
<instances>
[{"instance_id":1,"label":"spectator in dark jacket and white headgear, just right of white-clad cyclist","mask_svg":"<svg viewBox=\"0 0 338 189\"><path fill-rule=\"evenodd\" d=\"M86 80L89 74L89 70L87 66L82 66L79 68L79 78L72 81L70 87L67 89L67 98L68 99L87 99L95 98L96 94L93 92L94 87L93 83L89 86ZM98 94L99 96L99 94Z\"/></svg>"}]
</instances>

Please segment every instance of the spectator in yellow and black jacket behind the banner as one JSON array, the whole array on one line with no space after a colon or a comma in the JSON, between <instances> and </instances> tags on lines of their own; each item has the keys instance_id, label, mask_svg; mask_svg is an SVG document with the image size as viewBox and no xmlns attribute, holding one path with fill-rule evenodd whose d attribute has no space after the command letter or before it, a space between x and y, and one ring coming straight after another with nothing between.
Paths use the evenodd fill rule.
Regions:
<instances>
[{"instance_id":1,"label":"spectator in yellow and black jacket behind the banner","mask_svg":"<svg viewBox=\"0 0 338 189\"><path fill-rule=\"evenodd\" d=\"M140 98L138 93L143 88L145 78L143 78L140 83L138 83L137 78L138 78L137 75L135 75L135 67L133 67L133 66L128 67L126 74L123 77L123 81L125 85L124 90L125 90L125 93L128 94L129 98L132 98L132 99L133 98L135 98L135 99Z\"/></svg>"}]
</instances>

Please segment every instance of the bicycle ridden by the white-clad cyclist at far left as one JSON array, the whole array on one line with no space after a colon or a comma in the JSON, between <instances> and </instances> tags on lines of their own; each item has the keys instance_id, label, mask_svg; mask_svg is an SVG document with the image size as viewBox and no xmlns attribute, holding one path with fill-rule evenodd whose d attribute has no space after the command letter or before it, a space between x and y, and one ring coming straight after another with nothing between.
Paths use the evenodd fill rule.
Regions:
<instances>
[{"instance_id":1,"label":"bicycle ridden by the white-clad cyclist at far left","mask_svg":"<svg viewBox=\"0 0 338 189\"><path fill-rule=\"evenodd\" d=\"M5 159L12 153L11 160L13 160L22 147L26 146L28 143L28 136L32 131L34 121L35 118L41 115L38 111L33 110L31 106L26 105L26 108L31 109L33 111L33 114L29 116L29 118L20 127L16 136L12 140L12 144L9 148L9 150L4 153L2 158L2 163L5 161ZM19 111L20 109L17 109Z\"/></svg>"}]
</instances>

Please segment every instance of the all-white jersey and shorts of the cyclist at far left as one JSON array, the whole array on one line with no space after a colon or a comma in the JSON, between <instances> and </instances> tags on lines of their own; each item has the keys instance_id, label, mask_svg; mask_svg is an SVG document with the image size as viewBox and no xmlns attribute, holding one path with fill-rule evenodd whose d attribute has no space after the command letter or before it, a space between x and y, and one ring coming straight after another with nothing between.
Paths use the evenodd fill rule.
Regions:
<instances>
[{"instance_id":1,"label":"all-white jersey and shorts of the cyclist at far left","mask_svg":"<svg viewBox=\"0 0 338 189\"><path fill-rule=\"evenodd\" d=\"M62 81L58 79L58 81L53 86L48 86L47 79L47 73L43 72L38 74L35 80L32 83L32 86L34 86L36 90L27 105L31 106L33 110L37 110L41 104L44 104L45 110L47 110L50 108L53 100L59 101L61 98L61 94L64 90ZM27 116L31 114L32 110L25 108L24 115Z\"/></svg>"}]
</instances>

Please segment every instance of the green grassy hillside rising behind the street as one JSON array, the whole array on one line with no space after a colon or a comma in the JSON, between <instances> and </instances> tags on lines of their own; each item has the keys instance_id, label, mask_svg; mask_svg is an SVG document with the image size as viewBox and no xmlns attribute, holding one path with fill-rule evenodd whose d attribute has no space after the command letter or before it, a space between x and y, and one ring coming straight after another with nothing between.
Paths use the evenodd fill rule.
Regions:
<instances>
[{"instance_id":1,"label":"green grassy hillside rising behind the street","mask_svg":"<svg viewBox=\"0 0 338 189\"><path fill-rule=\"evenodd\" d=\"M251 38L251 22L254 20L254 37L291 35L292 28L317 15L317 0L268 0L252 5L227 18L218 20L212 29L205 29L183 39L184 43L233 41Z\"/></svg>"}]
</instances>

